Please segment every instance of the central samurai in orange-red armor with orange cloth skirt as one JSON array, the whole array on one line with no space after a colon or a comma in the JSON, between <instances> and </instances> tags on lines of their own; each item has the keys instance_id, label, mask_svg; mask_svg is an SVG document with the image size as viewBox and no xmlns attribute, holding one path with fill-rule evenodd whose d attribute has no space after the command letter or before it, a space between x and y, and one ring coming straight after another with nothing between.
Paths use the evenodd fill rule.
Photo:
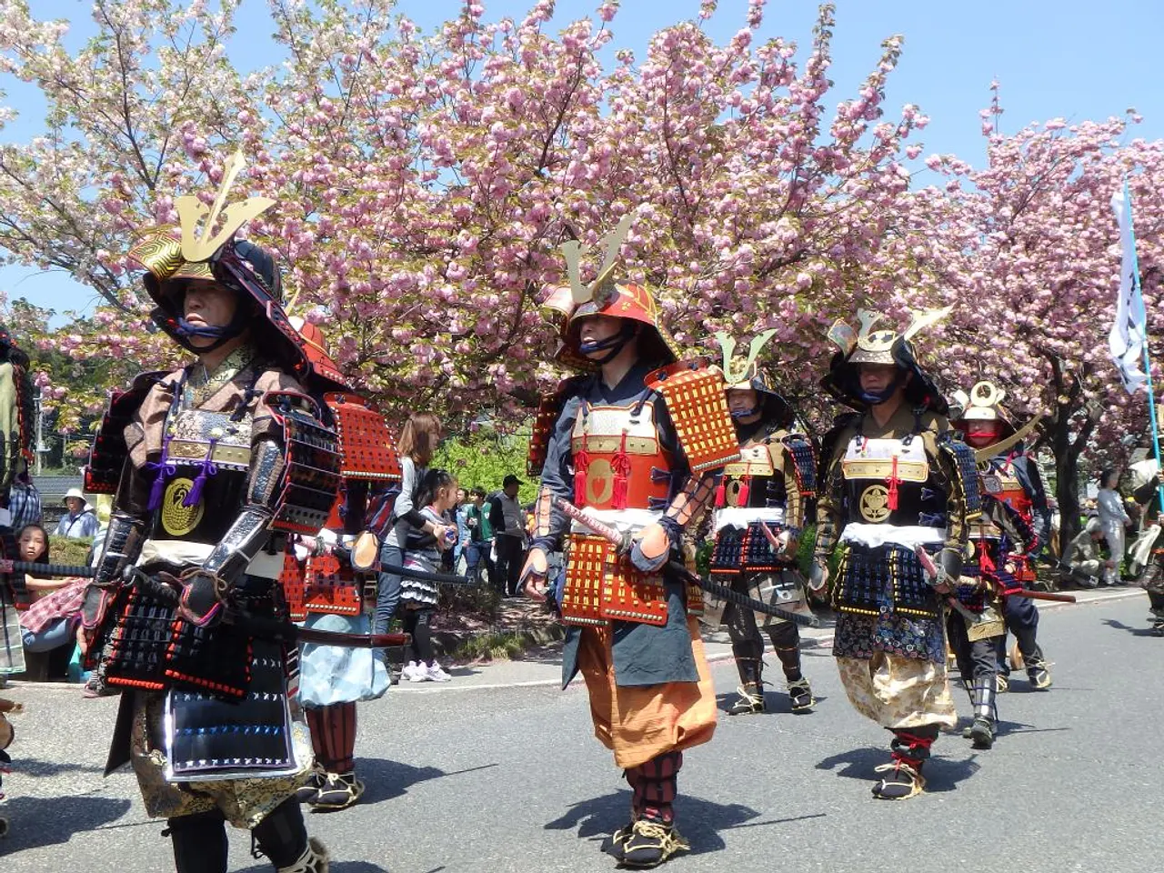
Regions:
<instances>
[{"instance_id":1,"label":"central samurai in orange-red armor with orange cloth skirt","mask_svg":"<svg viewBox=\"0 0 1164 873\"><path fill-rule=\"evenodd\" d=\"M541 596L547 558L565 546L563 687L582 672L595 736L631 785L631 819L611 853L627 867L654 867L689 847L675 829L679 771L716 725L695 616L701 592L668 562L681 560L684 527L709 506L717 471L739 446L718 370L676 363L651 293L613 278L627 229L624 220L605 240L589 285L579 244L563 246L570 285L547 306L563 315L559 361L583 375L539 411L530 469L541 487L521 580ZM572 521L563 504L617 531L619 545Z\"/></svg>"}]
</instances>

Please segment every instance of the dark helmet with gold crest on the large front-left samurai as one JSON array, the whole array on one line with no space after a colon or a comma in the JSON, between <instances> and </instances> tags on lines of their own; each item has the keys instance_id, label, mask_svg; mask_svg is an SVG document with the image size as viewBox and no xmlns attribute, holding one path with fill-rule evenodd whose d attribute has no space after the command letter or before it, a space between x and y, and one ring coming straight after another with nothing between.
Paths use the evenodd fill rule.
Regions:
<instances>
[{"instance_id":1,"label":"dark helmet with gold crest on the large front-left samurai","mask_svg":"<svg viewBox=\"0 0 1164 873\"><path fill-rule=\"evenodd\" d=\"M176 201L180 232L155 228L129 250L129 256L146 268L143 284L156 307L155 324L179 346L191 352L217 348L246 329L253 345L294 375L307 372L307 361L299 334L283 308L283 284L275 257L263 248L235 234L247 221L275 205L267 197L251 197L227 204L235 178L244 161L236 151L222 171L222 184L212 206L198 197ZM215 282L239 297L232 322L220 328L197 328L184 318L183 301L190 282ZM211 336L214 343L201 348L192 336Z\"/></svg>"}]
</instances>

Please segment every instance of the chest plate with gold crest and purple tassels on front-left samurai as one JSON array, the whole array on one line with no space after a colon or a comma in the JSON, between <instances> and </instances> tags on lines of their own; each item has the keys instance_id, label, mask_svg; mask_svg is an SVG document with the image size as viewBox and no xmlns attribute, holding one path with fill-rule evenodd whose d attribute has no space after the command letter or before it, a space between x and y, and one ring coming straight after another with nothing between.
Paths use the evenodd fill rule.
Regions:
<instances>
[{"instance_id":1,"label":"chest plate with gold crest and purple tassels on front-left samurai","mask_svg":"<svg viewBox=\"0 0 1164 873\"><path fill-rule=\"evenodd\" d=\"M219 542L242 506L250 469L251 418L178 409L165 421L162 504L151 539ZM196 487L196 483L199 483ZM191 492L197 499L191 501ZM191 505L186 505L190 503Z\"/></svg>"}]
</instances>

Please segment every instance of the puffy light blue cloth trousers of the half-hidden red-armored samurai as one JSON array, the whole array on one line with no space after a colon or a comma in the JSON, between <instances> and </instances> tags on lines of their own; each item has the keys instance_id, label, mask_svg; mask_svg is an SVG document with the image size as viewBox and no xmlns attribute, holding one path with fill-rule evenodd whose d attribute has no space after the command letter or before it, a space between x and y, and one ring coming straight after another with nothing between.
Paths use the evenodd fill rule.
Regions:
<instances>
[{"instance_id":1,"label":"puffy light blue cloth trousers of the half-hidden red-armored samurai","mask_svg":"<svg viewBox=\"0 0 1164 873\"><path fill-rule=\"evenodd\" d=\"M368 633L368 616L312 613L305 627L339 633ZM375 650L306 643L299 655L299 702L304 707L374 701L388 690L388 669Z\"/></svg>"}]
</instances>

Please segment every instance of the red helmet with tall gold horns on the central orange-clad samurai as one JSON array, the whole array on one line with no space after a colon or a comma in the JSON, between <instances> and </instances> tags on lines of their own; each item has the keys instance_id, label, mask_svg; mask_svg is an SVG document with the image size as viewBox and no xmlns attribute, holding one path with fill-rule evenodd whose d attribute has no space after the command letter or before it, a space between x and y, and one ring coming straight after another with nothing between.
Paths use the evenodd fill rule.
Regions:
<instances>
[{"instance_id":1,"label":"red helmet with tall gold horns on the central orange-clad samurai","mask_svg":"<svg viewBox=\"0 0 1164 873\"><path fill-rule=\"evenodd\" d=\"M650 363L663 365L677 360L675 343L666 328L659 324L659 308L651 291L643 285L618 282L615 270L618 267L618 251L626 234L631 229L631 218L626 215L618 227L606 234L601 243L605 246L602 267L594 282L582 283L580 260L588 249L577 240L562 244L569 285L553 289L542 304L542 312L548 321L558 327L561 346L555 359L568 367L580 370L597 369L598 363L583 354L580 339L582 319L588 315L610 315L626 319L626 328L619 336L612 338L612 354L633 335L637 321L644 327L639 333L639 356ZM592 350L591 350L592 352Z\"/></svg>"}]
</instances>

